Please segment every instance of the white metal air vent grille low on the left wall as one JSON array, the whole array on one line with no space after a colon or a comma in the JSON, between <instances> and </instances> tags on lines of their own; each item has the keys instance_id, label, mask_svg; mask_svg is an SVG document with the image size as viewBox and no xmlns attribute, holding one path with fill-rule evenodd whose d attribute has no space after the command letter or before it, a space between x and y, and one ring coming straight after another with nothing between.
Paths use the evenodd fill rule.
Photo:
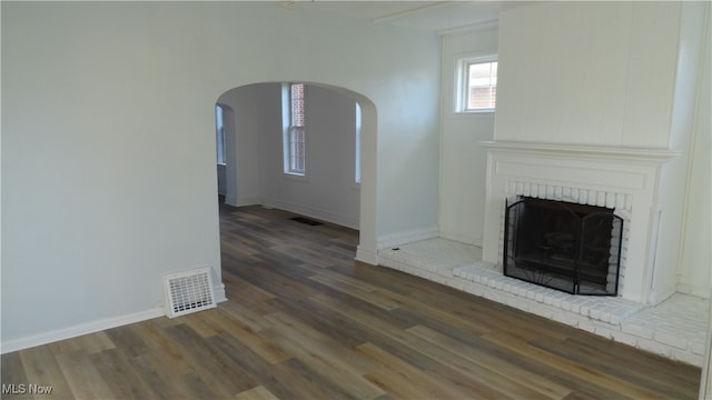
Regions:
<instances>
[{"instance_id":1,"label":"white metal air vent grille low on the left wall","mask_svg":"<svg viewBox=\"0 0 712 400\"><path fill-rule=\"evenodd\" d=\"M166 316L174 318L215 308L210 268L164 276Z\"/></svg>"}]
</instances>

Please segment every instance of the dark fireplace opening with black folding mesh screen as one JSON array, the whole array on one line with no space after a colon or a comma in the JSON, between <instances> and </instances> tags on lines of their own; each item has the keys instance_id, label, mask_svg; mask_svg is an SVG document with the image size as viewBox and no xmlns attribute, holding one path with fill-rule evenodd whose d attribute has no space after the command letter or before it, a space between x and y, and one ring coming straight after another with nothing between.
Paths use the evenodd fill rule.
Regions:
<instances>
[{"instance_id":1,"label":"dark fireplace opening with black folding mesh screen","mask_svg":"<svg viewBox=\"0 0 712 400\"><path fill-rule=\"evenodd\" d=\"M507 201L504 274L572 294L617 296L623 219L614 209Z\"/></svg>"}]
</instances>

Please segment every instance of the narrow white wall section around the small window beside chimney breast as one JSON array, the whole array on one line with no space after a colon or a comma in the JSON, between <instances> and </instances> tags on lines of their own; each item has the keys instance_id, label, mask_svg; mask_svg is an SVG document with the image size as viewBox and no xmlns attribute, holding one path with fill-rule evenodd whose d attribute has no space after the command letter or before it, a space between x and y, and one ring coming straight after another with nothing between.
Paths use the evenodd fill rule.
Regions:
<instances>
[{"instance_id":1,"label":"narrow white wall section around the small window beside chimney breast","mask_svg":"<svg viewBox=\"0 0 712 400\"><path fill-rule=\"evenodd\" d=\"M457 61L497 53L496 24L443 37L439 231L446 239L482 246L487 154L494 112L455 112Z\"/></svg>"}]
</instances>

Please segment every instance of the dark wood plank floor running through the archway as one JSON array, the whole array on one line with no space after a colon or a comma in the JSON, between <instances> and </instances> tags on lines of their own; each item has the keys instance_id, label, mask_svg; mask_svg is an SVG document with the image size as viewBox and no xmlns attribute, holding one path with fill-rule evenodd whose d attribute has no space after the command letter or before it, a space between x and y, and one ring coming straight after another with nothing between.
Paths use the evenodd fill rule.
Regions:
<instances>
[{"instance_id":1,"label":"dark wood plank floor running through the archway","mask_svg":"<svg viewBox=\"0 0 712 400\"><path fill-rule=\"evenodd\" d=\"M2 398L698 396L698 368L356 262L356 231L291 217L222 207L229 301L4 354ZM8 393L27 384L51 396Z\"/></svg>"}]
</instances>

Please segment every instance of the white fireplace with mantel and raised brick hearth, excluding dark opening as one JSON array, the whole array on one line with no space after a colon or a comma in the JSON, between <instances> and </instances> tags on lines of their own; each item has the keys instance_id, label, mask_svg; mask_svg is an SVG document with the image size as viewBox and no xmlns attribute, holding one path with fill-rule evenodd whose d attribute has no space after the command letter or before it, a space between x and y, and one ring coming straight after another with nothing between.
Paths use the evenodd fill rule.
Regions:
<instances>
[{"instance_id":1,"label":"white fireplace with mantel and raised brick hearth, excluding dark opening","mask_svg":"<svg viewBox=\"0 0 712 400\"><path fill-rule=\"evenodd\" d=\"M676 266L660 261L661 252L676 246L664 240L659 246L659 233L668 212L662 188L671 187L665 171L678 153L503 141L483 146L488 167L483 247L431 234L384 244L379 263L701 366L709 301L675 293L676 281L669 278ZM506 200L518 197L614 209L624 224L616 296L571 294L504 274Z\"/></svg>"}]
</instances>

